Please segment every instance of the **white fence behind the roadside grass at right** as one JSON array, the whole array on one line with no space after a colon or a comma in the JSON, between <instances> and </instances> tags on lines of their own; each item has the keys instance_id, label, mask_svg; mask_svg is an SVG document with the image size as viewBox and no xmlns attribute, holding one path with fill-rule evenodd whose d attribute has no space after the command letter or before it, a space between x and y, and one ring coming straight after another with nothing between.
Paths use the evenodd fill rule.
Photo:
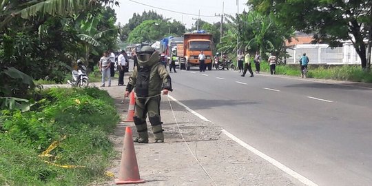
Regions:
<instances>
[{"instance_id":1,"label":"white fence behind the roadside grass at right","mask_svg":"<svg viewBox=\"0 0 372 186\"><path fill-rule=\"evenodd\" d=\"M309 57L309 64L319 65L360 65L360 57L351 43L342 47L329 48L327 44L303 44L287 48L290 55L287 64L298 64L303 53Z\"/></svg>"}]
</instances>

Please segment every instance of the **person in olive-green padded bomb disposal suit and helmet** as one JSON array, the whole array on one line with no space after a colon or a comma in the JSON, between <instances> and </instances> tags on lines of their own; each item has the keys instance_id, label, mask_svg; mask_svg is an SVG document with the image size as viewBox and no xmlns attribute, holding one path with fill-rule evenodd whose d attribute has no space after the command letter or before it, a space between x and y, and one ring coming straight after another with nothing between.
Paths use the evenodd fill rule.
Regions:
<instances>
[{"instance_id":1,"label":"person in olive-green padded bomb disposal suit and helmet","mask_svg":"<svg viewBox=\"0 0 372 186\"><path fill-rule=\"evenodd\" d=\"M129 83L125 90L125 97L129 96L134 89L136 92L136 106L134 109L134 125L138 137L133 138L137 143L149 143L147 134L146 115L152 125L155 143L164 142L164 134L160 116L161 91L168 94L172 91L171 78L167 69L160 63L158 52L150 47L144 46L137 54L138 66L134 68Z\"/></svg>"}]
</instances>

